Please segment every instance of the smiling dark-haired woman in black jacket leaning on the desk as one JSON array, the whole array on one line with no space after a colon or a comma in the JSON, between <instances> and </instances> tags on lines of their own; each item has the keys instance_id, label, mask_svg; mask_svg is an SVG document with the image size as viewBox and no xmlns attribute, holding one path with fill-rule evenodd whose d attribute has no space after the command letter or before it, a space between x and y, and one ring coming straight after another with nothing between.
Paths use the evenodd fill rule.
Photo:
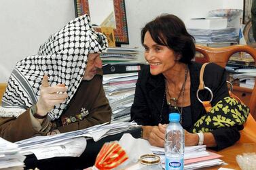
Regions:
<instances>
[{"instance_id":1,"label":"smiling dark-haired woman in black jacket leaning on the desk","mask_svg":"<svg viewBox=\"0 0 256 170\"><path fill-rule=\"evenodd\" d=\"M132 121L142 125L143 138L153 146L163 147L164 124L169 122L169 113L178 112L185 130L185 146L204 144L221 150L238 141L242 124L198 128L198 122L208 113L196 97L202 64L191 61L196 47L183 21L171 14L158 16L141 30L141 43L149 66L139 73L130 114ZM230 98L225 69L221 66L207 64L204 84L213 91L213 106L223 98ZM207 92L200 93L200 99L211 97ZM220 110L217 116L223 112ZM231 112L227 114L232 116ZM243 114L242 111L239 114Z\"/></svg>"}]
</instances>

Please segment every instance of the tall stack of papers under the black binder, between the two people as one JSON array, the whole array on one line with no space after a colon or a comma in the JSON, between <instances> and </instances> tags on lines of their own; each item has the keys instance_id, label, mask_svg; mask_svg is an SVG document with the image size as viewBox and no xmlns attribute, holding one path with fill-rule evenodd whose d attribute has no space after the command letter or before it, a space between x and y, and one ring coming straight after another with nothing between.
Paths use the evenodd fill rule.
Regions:
<instances>
[{"instance_id":1,"label":"tall stack of papers under the black binder, between the two people","mask_svg":"<svg viewBox=\"0 0 256 170\"><path fill-rule=\"evenodd\" d=\"M129 121L138 72L103 76L103 87L112 108L111 122Z\"/></svg>"}]
</instances>

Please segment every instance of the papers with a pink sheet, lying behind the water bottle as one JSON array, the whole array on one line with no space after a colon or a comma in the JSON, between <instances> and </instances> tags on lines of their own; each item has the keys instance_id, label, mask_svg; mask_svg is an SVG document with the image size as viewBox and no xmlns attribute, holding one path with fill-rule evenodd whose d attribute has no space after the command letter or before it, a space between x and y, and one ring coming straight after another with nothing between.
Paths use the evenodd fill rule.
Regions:
<instances>
[{"instance_id":1,"label":"papers with a pink sheet, lying behind the water bottle","mask_svg":"<svg viewBox=\"0 0 256 170\"><path fill-rule=\"evenodd\" d=\"M161 157L164 165L164 148L151 146L151 150L154 154L158 154ZM184 169L200 169L204 167L221 165L224 162L219 159L220 157L220 154L207 151L205 145L185 146Z\"/></svg>"}]
</instances>

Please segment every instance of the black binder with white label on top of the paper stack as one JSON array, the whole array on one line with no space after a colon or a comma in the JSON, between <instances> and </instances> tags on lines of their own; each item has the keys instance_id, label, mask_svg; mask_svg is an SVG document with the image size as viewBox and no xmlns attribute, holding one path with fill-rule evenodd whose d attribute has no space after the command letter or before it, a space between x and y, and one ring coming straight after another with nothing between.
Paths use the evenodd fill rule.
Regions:
<instances>
[{"instance_id":1,"label":"black binder with white label on top of the paper stack","mask_svg":"<svg viewBox=\"0 0 256 170\"><path fill-rule=\"evenodd\" d=\"M129 72L139 72L145 64L142 63L132 63L132 64L105 64L103 65L103 75L116 74L116 73L129 73Z\"/></svg>"}]
</instances>

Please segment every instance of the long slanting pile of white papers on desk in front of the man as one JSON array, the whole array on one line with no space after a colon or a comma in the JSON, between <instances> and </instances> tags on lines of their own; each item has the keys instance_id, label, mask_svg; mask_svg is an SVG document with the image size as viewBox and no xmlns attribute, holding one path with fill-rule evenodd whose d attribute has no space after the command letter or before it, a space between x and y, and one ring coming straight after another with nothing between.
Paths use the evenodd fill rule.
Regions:
<instances>
[{"instance_id":1,"label":"long slanting pile of white papers on desk in front of the man","mask_svg":"<svg viewBox=\"0 0 256 170\"><path fill-rule=\"evenodd\" d=\"M133 127L138 127L136 123L128 122L113 123L109 125L105 124L106 123L102 125L95 125L94 127L89 127L87 129L59 133L56 135L32 137L27 140L16 142L16 144L18 144L22 154L28 155L35 153L40 159L48 158L49 156L65 156L66 152L64 152L63 148L60 146L66 145L67 142L74 140L77 137L90 137L93 138L94 141L98 141L107 135L113 135L122 131L127 131ZM84 138L84 140L86 139ZM51 148L48 146L51 146ZM52 153L50 150L52 150ZM42 153L45 155L41 155Z\"/></svg>"}]
</instances>

